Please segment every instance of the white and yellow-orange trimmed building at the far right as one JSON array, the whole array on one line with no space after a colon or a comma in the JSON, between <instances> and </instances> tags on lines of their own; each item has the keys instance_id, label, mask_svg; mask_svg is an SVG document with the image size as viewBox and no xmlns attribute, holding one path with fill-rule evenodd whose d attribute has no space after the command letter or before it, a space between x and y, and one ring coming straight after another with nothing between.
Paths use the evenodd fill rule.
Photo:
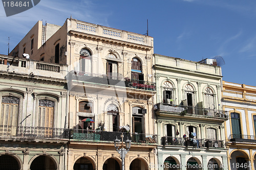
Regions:
<instances>
[{"instance_id":1,"label":"white and yellow-orange trimmed building at the far right","mask_svg":"<svg viewBox=\"0 0 256 170\"><path fill-rule=\"evenodd\" d=\"M256 87L223 81L229 169L255 169Z\"/></svg>"}]
</instances>

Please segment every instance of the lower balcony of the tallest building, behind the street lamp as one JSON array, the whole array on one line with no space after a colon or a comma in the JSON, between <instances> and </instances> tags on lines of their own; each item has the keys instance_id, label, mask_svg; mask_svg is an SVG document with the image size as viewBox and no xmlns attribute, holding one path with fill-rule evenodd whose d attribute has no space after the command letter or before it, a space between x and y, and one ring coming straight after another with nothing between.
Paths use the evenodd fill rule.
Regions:
<instances>
[{"instance_id":1,"label":"lower balcony of the tallest building, behind the street lamp","mask_svg":"<svg viewBox=\"0 0 256 170\"><path fill-rule=\"evenodd\" d=\"M111 141L116 138L121 140L122 132L106 132L106 131L93 131L93 130L81 130L72 129L70 131L70 139L82 140L82 141ZM123 133L123 140L132 140L136 143L156 144L157 135L143 134L143 133Z\"/></svg>"}]
</instances>

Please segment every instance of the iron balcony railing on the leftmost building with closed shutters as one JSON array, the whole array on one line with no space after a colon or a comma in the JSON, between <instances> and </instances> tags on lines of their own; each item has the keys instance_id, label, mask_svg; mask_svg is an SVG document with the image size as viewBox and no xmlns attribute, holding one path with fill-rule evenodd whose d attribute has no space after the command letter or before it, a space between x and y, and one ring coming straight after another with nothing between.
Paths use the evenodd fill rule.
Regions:
<instances>
[{"instance_id":1,"label":"iron balcony railing on the leftmost building with closed shutters","mask_svg":"<svg viewBox=\"0 0 256 170\"><path fill-rule=\"evenodd\" d=\"M7 126L0 125L0 139L4 137L19 137L23 139L69 139L69 129Z\"/></svg>"}]
</instances>

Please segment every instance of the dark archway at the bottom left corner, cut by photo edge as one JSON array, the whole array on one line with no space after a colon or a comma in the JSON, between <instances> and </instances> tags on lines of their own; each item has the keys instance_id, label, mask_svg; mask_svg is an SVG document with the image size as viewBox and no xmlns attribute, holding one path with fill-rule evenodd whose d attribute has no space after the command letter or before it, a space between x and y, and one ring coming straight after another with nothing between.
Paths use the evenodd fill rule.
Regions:
<instances>
[{"instance_id":1,"label":"dark archway at the bottom left corner, cut by photo edge","mask_svg":"<svg viewBox=\"0 0 256 170\"><path fill-rule=\"evenodd\" d=\"M10 155L0 156L0 169L3 170L18 170L19 165L17 160Z\"/></svg>"}]
</instances>

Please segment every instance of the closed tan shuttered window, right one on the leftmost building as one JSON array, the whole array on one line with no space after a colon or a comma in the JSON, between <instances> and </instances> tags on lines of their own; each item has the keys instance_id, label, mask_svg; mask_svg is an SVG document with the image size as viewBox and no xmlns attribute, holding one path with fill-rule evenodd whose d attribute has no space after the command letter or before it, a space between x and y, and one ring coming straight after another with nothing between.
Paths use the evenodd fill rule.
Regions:
<instances>
[{"instance_id":1,"label":"closed tan shuttered window, right one on the leftmost building","mask_svg":"<svg viewBox=\"0 0 256 170\"><path fill-rule=\"evenodd\" d=\"M48 99L39 100L37 126L53 128L54 102Z\"/></svg>"}]
</instances>

